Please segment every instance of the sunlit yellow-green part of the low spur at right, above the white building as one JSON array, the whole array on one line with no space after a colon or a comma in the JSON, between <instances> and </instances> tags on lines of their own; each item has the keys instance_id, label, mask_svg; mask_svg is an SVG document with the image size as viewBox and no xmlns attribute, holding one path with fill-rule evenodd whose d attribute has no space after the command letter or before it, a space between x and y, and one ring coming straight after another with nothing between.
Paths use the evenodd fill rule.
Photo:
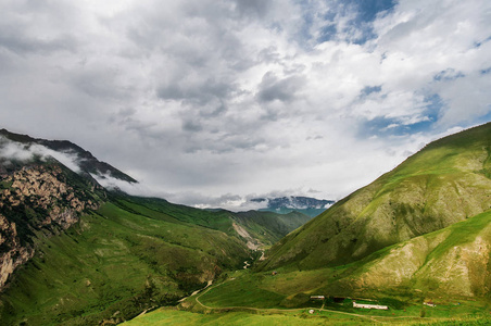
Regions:
<instances>
[{"instance_id":1,"label":"sunlit yellow-green part of the low spur at right, above the white building","mask_svg":"<svg viewBox=\"0 0 491 326\"><path fill-rule=\"evenodd\" d=\"M490 300L491 211L382 249L317 291Z\"/></svg>"}]
</instances>

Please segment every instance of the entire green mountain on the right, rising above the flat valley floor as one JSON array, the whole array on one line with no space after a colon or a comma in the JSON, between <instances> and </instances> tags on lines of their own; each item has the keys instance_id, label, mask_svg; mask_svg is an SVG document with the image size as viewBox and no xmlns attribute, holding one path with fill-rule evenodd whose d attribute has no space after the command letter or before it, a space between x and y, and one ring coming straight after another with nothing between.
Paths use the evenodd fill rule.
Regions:
<instances>
[{"instance_id":1,"label":"entire green mountain on the right, rising above the flat valley floor","mask_svg":"<svg viewBox=\"0 0 491 326\"><path fill-rule=\"evenodd\" d=\"M287 235L255 271L302 283L276 288L285 298L489 302L491 124L427 145Z\"/></svg>"}]
</instances>

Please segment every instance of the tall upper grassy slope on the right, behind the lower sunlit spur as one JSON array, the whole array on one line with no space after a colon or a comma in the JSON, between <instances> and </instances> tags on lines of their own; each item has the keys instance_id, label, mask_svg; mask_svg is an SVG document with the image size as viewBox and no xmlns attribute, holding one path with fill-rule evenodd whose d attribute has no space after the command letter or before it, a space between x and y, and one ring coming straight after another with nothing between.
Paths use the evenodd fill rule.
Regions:
<instances>
[{"instance_id":1,"label":"tall upper grassy slope on the right, behind the lower sunlit spur","mask_svg":"<svg viewBox=\"0 0 491 326\"><path fill-rule=\"evenodd\" d=\"M360 260L491 206L491 124L428 145L284 238L263 268Z\"/></svg>"}]
</instances>

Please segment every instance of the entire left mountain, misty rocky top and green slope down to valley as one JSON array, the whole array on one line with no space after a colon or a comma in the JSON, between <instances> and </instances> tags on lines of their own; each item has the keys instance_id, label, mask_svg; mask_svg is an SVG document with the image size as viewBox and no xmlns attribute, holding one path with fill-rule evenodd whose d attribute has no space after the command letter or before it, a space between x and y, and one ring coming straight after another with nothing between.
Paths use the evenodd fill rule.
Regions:
<instances>
[{"instance_id":1,"label":"entire left mountain, misty rocky top and green slope down to valley","mask_svg":"<svg viewBox=\"0 0 491 326\"><path fill-rule=\"evenodd\" d=\"M116 323L177 303L310 220L110 191L95 176L136 180L70 141L0 136L2 325Z\"/></svg>"}]
</instances>

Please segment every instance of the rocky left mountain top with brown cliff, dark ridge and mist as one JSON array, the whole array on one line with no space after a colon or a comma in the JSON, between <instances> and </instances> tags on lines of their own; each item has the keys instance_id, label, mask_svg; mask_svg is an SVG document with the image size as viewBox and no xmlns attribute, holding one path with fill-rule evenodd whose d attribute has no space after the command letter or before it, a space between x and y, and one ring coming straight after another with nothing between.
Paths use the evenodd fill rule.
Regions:
<instances>
[{"instance_id":1,"label":"rocky left mountain top with brown cliff, dark ridge and mist","mask_svg":"<svg viewBox=\"0 0 491 326\"><path fill-rule=\"evenodd\" d=\"M45 152L70 155L74 173ZM36 253L36 241L66 230L105 197L91 174L134 183L70 141L45 140L0 130L0 290Z\"/></svg>"}]
</instances>

